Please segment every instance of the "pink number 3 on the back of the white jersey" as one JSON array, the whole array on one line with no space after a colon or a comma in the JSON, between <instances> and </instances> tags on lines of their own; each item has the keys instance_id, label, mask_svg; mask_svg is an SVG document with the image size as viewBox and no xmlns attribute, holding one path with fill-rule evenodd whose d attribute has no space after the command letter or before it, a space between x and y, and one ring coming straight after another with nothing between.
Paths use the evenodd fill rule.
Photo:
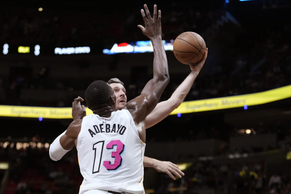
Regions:
<instances>
[{"instance_id":1,"label":"pink number 3 on the back of the white jersey","mask_svg":"<svg viewBox=\"0 0 291 194\"><path fill-rule=\"evenodd\" d=\"M110 161L104 161L103 166L108 171L117 171L122 167L123 159L121 155L124 153L125 145L120 140L112 140L106 145L108 151L115 151L111 153L111 157L114 159L113 164Z\"/></svg>"}]
</instances>

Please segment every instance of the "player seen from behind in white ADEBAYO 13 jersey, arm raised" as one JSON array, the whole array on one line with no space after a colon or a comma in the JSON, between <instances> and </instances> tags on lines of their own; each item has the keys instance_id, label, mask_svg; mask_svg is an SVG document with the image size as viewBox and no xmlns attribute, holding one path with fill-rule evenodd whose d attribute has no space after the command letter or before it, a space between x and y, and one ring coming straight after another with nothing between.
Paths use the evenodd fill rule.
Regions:
<instances>
[{"instance_id":1,"label":"player seen from behind in white ADEBAYO 13 jersey, arm raised","mask_svg":"<svg viewBox=\"0 0 291 194\"><path fill-rule=\"evenodd\" d=\"M151 18L144 5L141 10L145 28L154 48L153 79L141 95L129 101L124 109L115 112L116 97L104 81L91 83L85 99L92 115L73 121L64 135L50 147L50 157L61 159L76 146L79 166L84 180L79 193L144 193L143 154L145 149L146 116L156 107L169 83L168 63L161 38L161 11Z\"/></svg>"}]
</instances>

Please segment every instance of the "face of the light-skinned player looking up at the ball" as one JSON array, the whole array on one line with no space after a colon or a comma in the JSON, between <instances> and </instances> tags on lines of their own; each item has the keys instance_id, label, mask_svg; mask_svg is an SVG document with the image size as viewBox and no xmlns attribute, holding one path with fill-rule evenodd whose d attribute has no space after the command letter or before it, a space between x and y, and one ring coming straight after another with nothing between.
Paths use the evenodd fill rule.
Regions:
<instances>
[{"instance_id":1,"label":"face of the light-skinned player looking up at the ball","mask_svg":"<svg viewBox=\"0 0 291 194\"><path fill-rule=\"evenodd\" d=\"M110 84L115 96L116 96L116 107L115 110L123 109L126 104L127 97L125 95L125 88L119 83Z\"/></svg>"}]
</instances>

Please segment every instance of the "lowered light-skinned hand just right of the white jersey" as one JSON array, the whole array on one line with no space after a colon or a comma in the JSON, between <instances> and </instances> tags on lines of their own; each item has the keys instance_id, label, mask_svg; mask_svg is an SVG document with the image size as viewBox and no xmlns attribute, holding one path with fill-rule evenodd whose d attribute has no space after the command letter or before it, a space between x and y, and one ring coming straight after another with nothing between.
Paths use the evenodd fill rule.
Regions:
<instances>
[{"instance_id":1,"label":"lowered light-skinned hand just right of the white jersey","mask_svg":"<svg viewBox=\"0 0 291 194\"><path fill-rule=\"evenodd\" d=\"M168 174L173 180L176 180L174 175L179 178L182 178L182 176L184 176L184 173L179 169L179 167L172 162L158 160L155 162L155 165L153 167L159 172L164 172Z\"/></svg>"}]
</instances>

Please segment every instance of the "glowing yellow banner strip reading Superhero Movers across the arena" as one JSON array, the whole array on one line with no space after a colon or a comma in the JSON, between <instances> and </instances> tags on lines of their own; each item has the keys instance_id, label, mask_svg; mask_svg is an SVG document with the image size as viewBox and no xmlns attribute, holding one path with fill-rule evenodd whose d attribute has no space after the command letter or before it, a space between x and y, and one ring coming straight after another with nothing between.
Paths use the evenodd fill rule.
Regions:
<instances>
[{"instance_id":1,"label":"glowing yellow banner strip reading Superhero Movers across the arena","mask_svg":"<svg viewBox=\"0 0 291 194\"><path fill-rule=\"evenodd\" d=\"M287 85L253 94L182 102L170 115L260 105L290 97L291 85ZM88 107L86 107L86 112L87 115L92 114ZM42 119L72 119L72 108L0 105L0 116L41 118L39 121Z\"/></svg>"}]
</instances>

